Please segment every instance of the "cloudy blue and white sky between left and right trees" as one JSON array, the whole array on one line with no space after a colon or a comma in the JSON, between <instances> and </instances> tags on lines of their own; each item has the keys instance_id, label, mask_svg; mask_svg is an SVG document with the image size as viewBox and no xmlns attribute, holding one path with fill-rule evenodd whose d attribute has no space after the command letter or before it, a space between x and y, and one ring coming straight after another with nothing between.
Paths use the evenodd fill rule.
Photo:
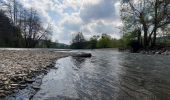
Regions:
<instances>
[{"instance_id":1,"label":"cloudy blue and white sky between left and right trees","mask_svg":"<svg viewBox=\"0 0 170 100\"><path fill-rule=\"evenodd\" d=\"M44 24L53 28L52 40L70 44L76 33L86 39L107 33L120 37L120 0L19 0L25 7L33 7Z\"/></svg>"}]
</instances>

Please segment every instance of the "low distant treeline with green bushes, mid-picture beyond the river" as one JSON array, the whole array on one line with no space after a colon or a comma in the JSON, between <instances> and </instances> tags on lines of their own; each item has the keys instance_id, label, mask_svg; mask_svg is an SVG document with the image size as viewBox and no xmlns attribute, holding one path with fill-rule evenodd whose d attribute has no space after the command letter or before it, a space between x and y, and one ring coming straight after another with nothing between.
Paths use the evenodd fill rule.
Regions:
<instances>
[{"instance_id":1,"label":"low distant treeline with green bushes, mid-picture beyond the river","mask_svg":"<svg viewBox=\"0 0 170 100\"><path fill-rule=\"evenodd\" d=\"M90 40L86 40L81 32L76 34L70 45L71 49L99 49L99 48L119 48L122 42L119 39L113 39L110 35L94 35Z\"/></svg>"}]
</instances>

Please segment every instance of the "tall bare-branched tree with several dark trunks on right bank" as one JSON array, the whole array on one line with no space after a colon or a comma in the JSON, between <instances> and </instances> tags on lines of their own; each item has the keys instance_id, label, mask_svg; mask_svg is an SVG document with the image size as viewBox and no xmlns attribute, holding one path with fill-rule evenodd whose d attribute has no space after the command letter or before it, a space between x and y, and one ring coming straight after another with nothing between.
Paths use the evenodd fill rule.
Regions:
<instances>
[{"instance_id":1,"label":"tall bare-branched tree with several dark trunks on right bank","mask_svg":"<svg viewBox=\"0 0 170 100\"><path fill-rule=\"evenodd\" d=\"M128 0L122 2L121 16L124 31L140 30L145 49L156 43L157 30L170 24L169 0ZM141 36L140 36L141 37Z\"/></svg>"}]
</instances>

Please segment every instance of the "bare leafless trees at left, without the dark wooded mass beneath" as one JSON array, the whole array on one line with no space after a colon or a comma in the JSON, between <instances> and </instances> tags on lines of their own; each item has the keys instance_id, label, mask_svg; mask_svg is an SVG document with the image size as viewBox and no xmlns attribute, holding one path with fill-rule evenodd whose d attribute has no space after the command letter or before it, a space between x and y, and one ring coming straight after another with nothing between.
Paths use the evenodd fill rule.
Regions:
<instances>
[{"instance_id":1,"label":"bare leafless trees at left, without the dark wooded mass beneath","mask_svg":"<svg viewBox=\"0 0 170 100\"><path fill-rule=\"evenodd\" d=\"M44 27L36 10L24 8L17 0L3 0L1 5L11 25L17 27L13 27L11 32L18 36L18 41L24 39L24 47L35 47L40 40L51 39L52 27L50 24Z\"/></svg>"}]
</instances>

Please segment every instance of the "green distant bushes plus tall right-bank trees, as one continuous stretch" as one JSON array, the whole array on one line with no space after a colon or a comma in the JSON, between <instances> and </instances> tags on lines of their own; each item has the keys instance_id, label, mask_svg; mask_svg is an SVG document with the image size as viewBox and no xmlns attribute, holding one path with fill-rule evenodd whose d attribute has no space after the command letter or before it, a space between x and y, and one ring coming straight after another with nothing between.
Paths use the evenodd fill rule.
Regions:
<instances>
[{"instance_id":1,"label":"green distant bushes plus tall right-bank trees, as one continuous stretch","mask_svg":"<svg viewBox=\"0 0 170 100\"><path fill-rule=\"evenodd\" d=\"M112 39L109 35L93 36L85 41L78 33L72 48L120 48L131 52L169 54L170 47L170 1L169 0L122 0L120 15L123 35ZM81 44L81 45L79 45ZM150 53L151 52L151 53Z\"/></svg>"}]
</instances>

